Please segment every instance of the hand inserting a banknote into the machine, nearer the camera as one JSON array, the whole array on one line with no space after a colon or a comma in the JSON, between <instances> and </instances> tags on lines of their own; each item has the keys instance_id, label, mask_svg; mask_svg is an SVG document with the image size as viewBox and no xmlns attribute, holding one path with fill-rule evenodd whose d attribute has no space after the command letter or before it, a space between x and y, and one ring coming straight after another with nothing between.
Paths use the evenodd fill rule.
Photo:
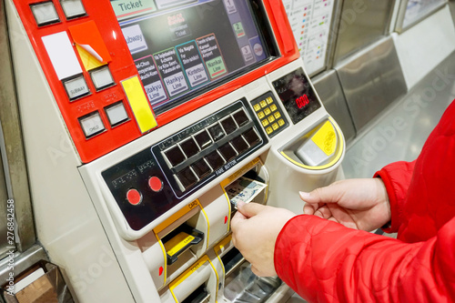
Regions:
<instances>
[{"instance_id":1,"label":"hand inserting a banknote into the machine, nearer the camera","mask_svg":"<svg viewBox=\"0 0 455 303\"><path fill-rule=\"evenodd\" d=\"M239 202L237 207L238 212L231 220L234 246L251 263L256 276L276 276L275 242L286 222L296 215L284 208L258 203Z\"/></svg>"}]
</instances>

